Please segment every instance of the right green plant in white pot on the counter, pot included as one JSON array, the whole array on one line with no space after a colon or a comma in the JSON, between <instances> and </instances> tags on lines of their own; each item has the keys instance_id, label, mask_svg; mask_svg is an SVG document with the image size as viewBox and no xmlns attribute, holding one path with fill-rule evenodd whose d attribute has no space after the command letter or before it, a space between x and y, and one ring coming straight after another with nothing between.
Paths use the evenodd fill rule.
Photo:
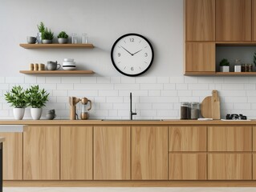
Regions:
<instances>
[{"instance_id":1,"label":"right green plant in white pot on the counter, pot included","mask_svg":"<svg viewBox=\"0 0 256 192\"><path fill-rule=\"evenodd\" d=\"M28 101L28 106L31 106L30 114L34 120L39 120L42 115L42 107L45 106L48 101L49 94L46 90L40 90L39 85L30 86L26 90L26 96Z\"/></svg>"}]
</instances>

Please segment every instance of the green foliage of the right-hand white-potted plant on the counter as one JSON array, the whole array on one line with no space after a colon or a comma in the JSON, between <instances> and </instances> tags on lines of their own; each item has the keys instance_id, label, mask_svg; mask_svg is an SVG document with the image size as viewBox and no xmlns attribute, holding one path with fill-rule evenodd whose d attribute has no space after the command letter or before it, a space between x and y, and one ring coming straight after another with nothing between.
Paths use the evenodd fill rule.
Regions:
<instances>
[{"instance_id":1,"label":"green foliage of the right-hand white-potted plant on the counter","mask_svg":"<svg viewBox=\"0 0 256 192\"><path fill-rule=\"evenodd\" d=\"M30 86L30 88L26 90L28 106L31 106L32 108L42 108L45 106L48 101L48 96L49 94L46 90L39 89L39 85Z\"/></svg>"}]
</instances>

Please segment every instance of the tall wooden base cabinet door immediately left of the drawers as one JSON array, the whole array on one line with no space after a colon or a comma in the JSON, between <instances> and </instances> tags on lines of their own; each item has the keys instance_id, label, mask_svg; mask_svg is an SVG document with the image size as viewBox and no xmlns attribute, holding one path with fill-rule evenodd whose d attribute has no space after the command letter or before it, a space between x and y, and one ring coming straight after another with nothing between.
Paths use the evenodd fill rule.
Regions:
<instances>
[{"instance_id":1,"label":"tall wooden base cabinet door immediately left of the drawers","mask_svg":"<svg viewBox=\"0 0 256 192\"><path fill-rule=\"evenodd\" d=\"M132 179L168 179L167 126L132 126Z\"/></svg>"}]
</instances>

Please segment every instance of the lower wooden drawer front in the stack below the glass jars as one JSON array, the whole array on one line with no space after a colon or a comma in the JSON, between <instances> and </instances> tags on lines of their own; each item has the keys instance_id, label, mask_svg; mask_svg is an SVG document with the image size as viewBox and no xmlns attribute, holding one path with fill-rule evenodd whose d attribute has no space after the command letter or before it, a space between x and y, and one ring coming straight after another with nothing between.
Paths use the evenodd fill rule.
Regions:
<instances>
[{"instance_id":1,"label":"lower wooden drawer front in the stack below the glass jars","mask_svg":"<svg viewBox=\"0 0 256 192\"><path fill-rule=\"evenodd\" d=\"M169 180L206 180L206 154L169 154Z\"/></svg>"}]
</instances>

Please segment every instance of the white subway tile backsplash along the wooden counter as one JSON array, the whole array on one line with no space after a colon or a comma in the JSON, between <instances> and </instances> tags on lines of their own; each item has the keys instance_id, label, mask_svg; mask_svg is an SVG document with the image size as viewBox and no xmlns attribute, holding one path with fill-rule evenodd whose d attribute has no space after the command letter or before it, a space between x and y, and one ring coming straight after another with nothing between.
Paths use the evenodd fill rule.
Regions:
<instances>
[{"instance_id":1,"label":"white subway tile backsplash along the wooden counter","mask_svg":"<svg viewBox=\"0 0 256 192\"><path fill-rule=\"evenodd\" d=\"M91 118L129 118L130 97L134 118L179 119L181 102L201 102L218 90L221 117L227 113L256 118L256 78L250 77L0 77L0 118L13 119L13 107L4 94L12 86L25 89L39 84L50 93L44 110L55 109L59 119L69 119L69 96L91 99ZM81 104L77 104L78 112ZM25 118L30 119L30 108ZM44 118L44 114L43 114Z\"/></svg>"}]
</instances>

